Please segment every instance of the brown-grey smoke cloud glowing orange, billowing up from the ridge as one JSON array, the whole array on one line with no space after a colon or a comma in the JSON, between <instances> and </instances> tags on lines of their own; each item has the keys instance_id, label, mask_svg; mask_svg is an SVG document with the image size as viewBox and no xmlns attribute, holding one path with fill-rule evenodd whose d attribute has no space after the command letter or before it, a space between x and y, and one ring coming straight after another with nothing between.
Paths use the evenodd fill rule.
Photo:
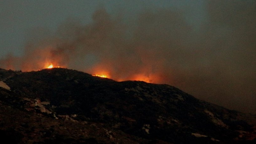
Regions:
<instances>
[{"instance_id":1,"label":"brown-grey smoke cloud glowing orange, billowing up from the ridge","mask_svg":"<svg viewBox=\"0 0 256 144\"><path fill-rule=\"evenodd\" d=\"M187 8L146 8L127 17L100 5L84 24L67 18L55 31L28 32L24 55L1 68L31 71L48 64L117 81L169 84L225 108L256 110L256 2L205 1L205 19L193 25Z\"/></svg>"}]
</instances>

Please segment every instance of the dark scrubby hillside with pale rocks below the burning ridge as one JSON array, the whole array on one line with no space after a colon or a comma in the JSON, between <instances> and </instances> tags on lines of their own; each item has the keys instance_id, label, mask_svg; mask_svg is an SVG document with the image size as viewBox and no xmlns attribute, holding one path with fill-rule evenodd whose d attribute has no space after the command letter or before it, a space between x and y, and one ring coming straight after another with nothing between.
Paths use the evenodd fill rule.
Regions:
<instances>
[{"instance_id":1,"label":"dark scrubby hillside with pale rocks below the burning ridge","mask_svg":"<svg viewBox=\"0 0 256 144\"><path fill-rule=\"evenodd\" d=\"M65 68L0 69L0 80L10 87L0 87L0 133L17 143L256 141L248 115L169 85L116 82Z\"/></svg>"}]
</instances>

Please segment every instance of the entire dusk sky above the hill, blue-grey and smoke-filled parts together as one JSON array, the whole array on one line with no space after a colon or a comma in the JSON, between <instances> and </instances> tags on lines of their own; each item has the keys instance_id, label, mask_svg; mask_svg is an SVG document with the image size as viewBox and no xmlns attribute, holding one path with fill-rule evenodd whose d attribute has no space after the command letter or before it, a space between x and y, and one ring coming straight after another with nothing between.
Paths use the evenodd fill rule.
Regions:
<instances>
[{"instance_id":1,"label":"entire dusk sky above the hill, blue-grey and smoke-filled parts together","mask_svg":"<svg viewBox=\"0 0 256 144\"><path fill-rule=\"evenodd\" d=\"M254 0L1 0L0 68L169 84L256 113Z\"/></svg>"}]
</instances>

